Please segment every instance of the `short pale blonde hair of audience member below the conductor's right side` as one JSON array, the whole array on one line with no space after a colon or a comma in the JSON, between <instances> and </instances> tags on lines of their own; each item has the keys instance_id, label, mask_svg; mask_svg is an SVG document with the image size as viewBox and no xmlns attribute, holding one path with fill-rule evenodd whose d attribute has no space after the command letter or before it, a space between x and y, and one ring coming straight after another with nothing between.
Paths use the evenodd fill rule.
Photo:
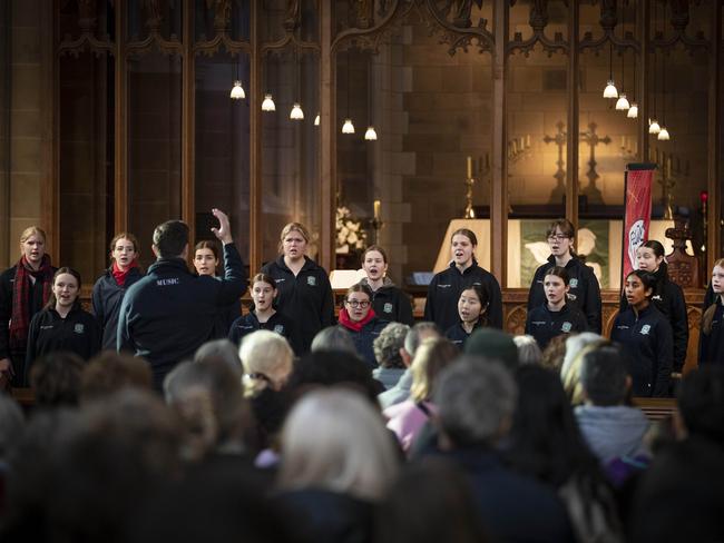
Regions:
<instances>
[{"instance_id":1,"label":"short pale blonde hair of audience member below the conductor's right side","mask_svg":"<svg viewBox=\"0 0 724 543\"><path fill-rule=\"evenodd\" d=\"M256 330L244 336L238 356L244 366L244 395L247 397L256 396L267 386L280 387L292 373L292 347L272 330Z\"/></svg>"}]
</instances>

